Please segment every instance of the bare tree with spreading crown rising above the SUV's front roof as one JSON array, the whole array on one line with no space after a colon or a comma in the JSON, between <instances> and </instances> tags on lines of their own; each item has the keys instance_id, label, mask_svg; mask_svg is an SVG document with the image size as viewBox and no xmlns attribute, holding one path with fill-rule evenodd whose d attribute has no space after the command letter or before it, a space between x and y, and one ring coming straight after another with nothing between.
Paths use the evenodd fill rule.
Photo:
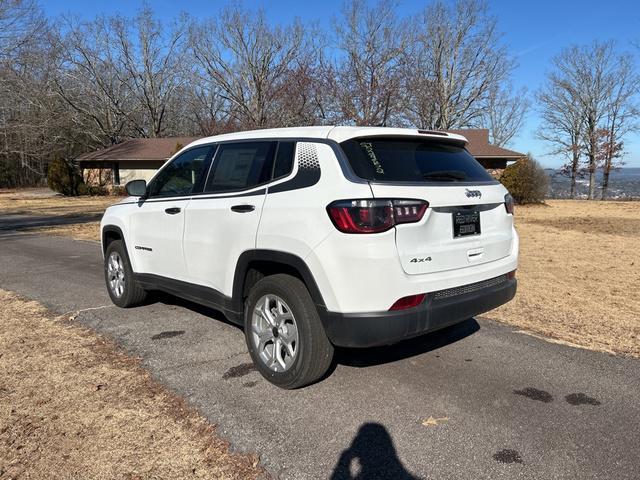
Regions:
<instances>
[{"instance_id":1,"label":"bare tree with spreading crown rising above the SUV's front roof","mask_svg":"<svg viewBox=\"0 0 640 480\"><path fill-rule=\"evenodd\" d=\"M289 80L307 67L312 48L301 23L271 26L264 12L234 6L218 19L194 24L190 43L203 84L212 92L207 97L223 98L229 121L239 128L289 123L280 105L292 94Z\"/></svg>"}]
</instances>

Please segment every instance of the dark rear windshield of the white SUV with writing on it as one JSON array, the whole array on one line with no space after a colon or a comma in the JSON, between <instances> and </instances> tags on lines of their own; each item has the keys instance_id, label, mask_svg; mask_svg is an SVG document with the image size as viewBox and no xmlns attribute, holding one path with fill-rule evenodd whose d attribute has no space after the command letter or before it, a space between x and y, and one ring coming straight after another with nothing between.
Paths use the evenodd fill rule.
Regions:
<instances>
[{"instance_id":1,"label":"dark rear windshield of the white SUV with writing on it","mask_svg":"<svg viewBox=\"0 0 640 480\"><path fill-rule=\"evenodd\" d=\"M356 175L390 182L491 182L494 178L464 148L434 141L356 138L343 142Z\"/></svg>"}]
</instances>

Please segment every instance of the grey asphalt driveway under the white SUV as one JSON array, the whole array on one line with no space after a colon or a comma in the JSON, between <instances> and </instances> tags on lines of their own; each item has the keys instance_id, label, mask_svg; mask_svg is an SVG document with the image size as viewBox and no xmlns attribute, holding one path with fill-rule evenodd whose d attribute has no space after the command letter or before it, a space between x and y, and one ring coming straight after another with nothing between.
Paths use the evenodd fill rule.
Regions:
<instances>
[{"instance_id":1,"label":"grey asphalt driveway under the white SUV","mask_svg":"<svg viewBox=\"0 0 640 480\"><path fill-rule=\"evenodd\" d=\"M95 243L2 236L0 288L113 337L275 477L638 478L638 360L471 319L340 351L322 382L283 391L215 311L169 296L112 306Z\"/></svg>"}]
</instances>

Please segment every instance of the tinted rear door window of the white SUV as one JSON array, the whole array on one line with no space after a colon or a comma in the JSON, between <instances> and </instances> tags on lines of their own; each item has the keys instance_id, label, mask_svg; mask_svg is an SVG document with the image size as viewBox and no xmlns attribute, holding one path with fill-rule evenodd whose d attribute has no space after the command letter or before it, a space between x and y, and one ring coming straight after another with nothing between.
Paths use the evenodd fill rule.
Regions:
<instances>
[{"instance_id":1,"label":"tinted rear door window of the white SUV","mask_svg":"<svg viewBox=\"0 0 640 480\"><path fill-rule=\"evenodd\" d=\"M276 142L227 143L218 147L205 192L244 190L271 179Z\"/></svg>"}]
</instances>

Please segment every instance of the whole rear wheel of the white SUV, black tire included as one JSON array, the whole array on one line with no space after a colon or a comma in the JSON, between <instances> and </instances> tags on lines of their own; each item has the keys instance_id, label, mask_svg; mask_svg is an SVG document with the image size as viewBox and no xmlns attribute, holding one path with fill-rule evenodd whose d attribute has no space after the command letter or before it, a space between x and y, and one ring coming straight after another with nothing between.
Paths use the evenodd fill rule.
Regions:
<instances>
[{"instance_id":1,"label":"whole rear wheel of the white SUV, black tire included","mask_svg":"<svg viewBox=\"0 0 640 480\"><path fill-rule=\"evenodd\" d=\"M307 287L296 277L277 274L258 281L245 302L244 327L256 369L278 387L304 387L331 366L333 345Z\"/></svg>"}]
</instances>

